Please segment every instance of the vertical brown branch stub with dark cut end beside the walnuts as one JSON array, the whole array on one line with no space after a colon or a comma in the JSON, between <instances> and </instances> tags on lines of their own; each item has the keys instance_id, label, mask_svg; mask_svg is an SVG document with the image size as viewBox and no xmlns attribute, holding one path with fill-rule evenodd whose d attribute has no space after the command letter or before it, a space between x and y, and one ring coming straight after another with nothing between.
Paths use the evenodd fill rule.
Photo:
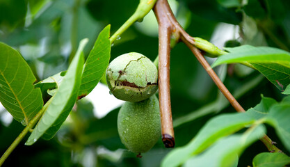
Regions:
<instances>
[{"instance_id":1,"label":"vertical brown branch stub with dark cut end beside the walnuts","mask_svg":"<svg viewBox=\"0 0 290 167\"><path fill-rule=\"evenodd\" d=\"M162 141L166 148L175 146L170 102L170 36L172 25L164 13L163 1L157 1L154 13L159 23L159 104L161 114Z\"/></svg>"}]
</instances>

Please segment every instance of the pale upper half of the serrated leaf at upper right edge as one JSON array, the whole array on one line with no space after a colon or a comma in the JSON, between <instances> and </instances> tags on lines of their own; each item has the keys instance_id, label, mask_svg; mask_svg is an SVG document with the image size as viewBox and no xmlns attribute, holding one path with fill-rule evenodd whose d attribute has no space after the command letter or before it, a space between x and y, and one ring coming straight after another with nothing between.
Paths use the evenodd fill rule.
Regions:
<instances>
[{"instance_id":1,"label":"pale upper half of the serrated leaf at upper right edge","mask_svg":"<svg viewBox=\"0 0 290 167\"><path fill-rule=\"evenodd\" d=\"M229 54L219 56L212 67L225 63L277 63L290 67L290 53L273 47L240 47L225 48Z\"/></svg>"}]
</instances>

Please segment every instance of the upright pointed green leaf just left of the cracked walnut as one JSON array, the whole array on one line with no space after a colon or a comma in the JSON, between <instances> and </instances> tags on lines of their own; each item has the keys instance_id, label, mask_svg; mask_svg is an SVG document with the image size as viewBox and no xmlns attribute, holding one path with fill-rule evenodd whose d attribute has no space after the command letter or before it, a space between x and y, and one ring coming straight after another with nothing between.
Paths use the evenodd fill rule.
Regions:
<instances>
[{"instance_id":1,"label":"upright pointed green leaf just left of the cracked walnut","mask_svg":"<svg viewBox=\"0 0 290 167\"><path fill-rule=\"evenodd\" d=\"M108 39L110 35L110 25L99 33L95 46L90 51L86 64L83 67L83 76L81 78L81 87L79 88L79 98L85 97L92 91L103 77L108 67L108 61L111 54L111 42Z\"/></svg>"}]
</instances>

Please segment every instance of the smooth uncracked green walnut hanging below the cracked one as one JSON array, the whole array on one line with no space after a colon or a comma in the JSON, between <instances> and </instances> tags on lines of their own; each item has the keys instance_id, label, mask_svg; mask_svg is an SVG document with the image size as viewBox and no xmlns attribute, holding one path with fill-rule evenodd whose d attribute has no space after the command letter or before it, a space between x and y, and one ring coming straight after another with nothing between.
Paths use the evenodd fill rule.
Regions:
<instances>
[{"instance_id":1,"label":"smooth uncracked green walnut hanging below the cracked one","mask_svg":"<svg viewBox=\"0 0 290 167\"><path fill-rule=\"evenodd\" d=\"M135 153L147 152L161 138L159 101L155 95L142 102L125 102L118 114L122 143Z\"/></svg>"}]
</instances>

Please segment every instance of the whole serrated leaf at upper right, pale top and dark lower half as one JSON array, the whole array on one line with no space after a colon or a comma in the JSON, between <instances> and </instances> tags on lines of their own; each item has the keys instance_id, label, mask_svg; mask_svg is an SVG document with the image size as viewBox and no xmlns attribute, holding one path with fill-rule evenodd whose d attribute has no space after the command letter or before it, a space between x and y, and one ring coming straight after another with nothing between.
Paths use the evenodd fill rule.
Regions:
<instances>
[{"instance_id":1,"label":"whole serrated leaf at upper right, pale top and dark lower half","mask_svg":"<svg viewBox=\"0 0 290 167\"><path fill-rule=\"evenodd\" d=\"M230 53L218 57L212 67L223 63L250 63L272 84L284 90L290 84L290 53L273 47L226 48Z\"/></svg>"}]
</instances>

